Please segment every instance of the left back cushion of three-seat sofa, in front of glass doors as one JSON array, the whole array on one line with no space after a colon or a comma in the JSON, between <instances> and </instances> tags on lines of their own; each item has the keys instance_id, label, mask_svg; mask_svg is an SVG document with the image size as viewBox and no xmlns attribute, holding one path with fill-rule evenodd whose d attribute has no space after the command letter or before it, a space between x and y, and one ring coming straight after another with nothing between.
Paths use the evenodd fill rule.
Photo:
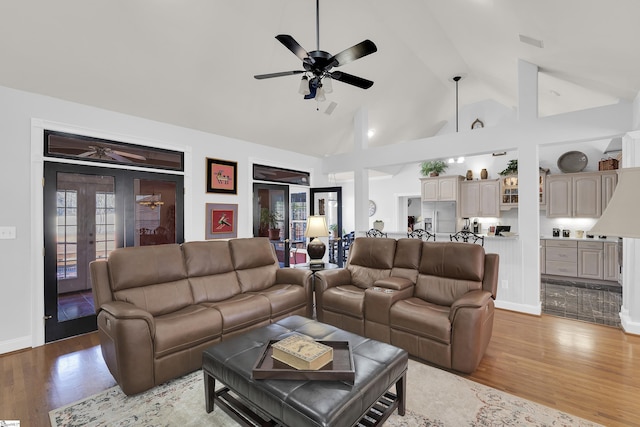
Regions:
<instances>
[{"instance_id":1,"label":"left back cushion of three-seat sofa, in front of glass doors","mask_svg":"<svg viewBox=\"0 0 640 427\"><path fill-rule=\"evenodd\" d=\"M115 301L126 301L152 315L193 304L180 245L120 248L108 259Z\"/></svg>"}]
</instances>

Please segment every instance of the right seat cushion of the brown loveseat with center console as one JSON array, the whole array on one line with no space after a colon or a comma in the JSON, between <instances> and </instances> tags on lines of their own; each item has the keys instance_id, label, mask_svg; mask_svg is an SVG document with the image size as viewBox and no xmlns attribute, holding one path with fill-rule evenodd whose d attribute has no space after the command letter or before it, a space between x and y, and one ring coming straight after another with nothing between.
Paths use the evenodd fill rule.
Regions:
<instances>
[{"instance_id":1,"label":"right seat cushion of the brown loveseat with center console","mask_svg":"<svg viewBox=\"0 0 640 427\"><path fill-rule=\"evenodd\" d=\"M391 329L408 332L424 338L451 342L449 307L432 304L412 297L398 301L389 313Z\"/></svg>"}]
</instances>

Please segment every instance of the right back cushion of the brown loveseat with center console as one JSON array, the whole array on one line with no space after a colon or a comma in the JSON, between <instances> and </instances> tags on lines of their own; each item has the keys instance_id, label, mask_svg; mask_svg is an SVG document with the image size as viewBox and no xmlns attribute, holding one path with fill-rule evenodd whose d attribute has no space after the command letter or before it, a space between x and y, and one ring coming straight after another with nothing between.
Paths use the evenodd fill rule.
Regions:
<instances>
[{"instance_id":1,"label":"right back cushion of the brown loveseat with center console","mask_svg":"<svg viewBox=\"0 0 640 427\"><path fill-rule=\"evenodd\" d=\"M484 249L471 243L424 242L415 296L450 306L465 293L482 289Z\"/></svg>"}]
</instances>

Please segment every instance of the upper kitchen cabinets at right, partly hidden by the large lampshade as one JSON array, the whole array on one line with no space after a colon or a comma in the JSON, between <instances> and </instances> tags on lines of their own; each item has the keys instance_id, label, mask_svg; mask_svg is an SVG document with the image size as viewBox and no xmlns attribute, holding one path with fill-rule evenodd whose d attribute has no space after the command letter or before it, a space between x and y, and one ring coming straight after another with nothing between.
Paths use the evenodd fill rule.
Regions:
<instances>
[{"instance_id":1,"label":"upper kitchen cabinets at right, partly hidden by the large lampshade","mask_svg":"<svg viewBox=\"0 0 640 427\"><path fill-rule=\"evenodd\" d=\"M550 175L547 217L599 218L616 183L615 171Z\"/></svg>"}]
</instances>

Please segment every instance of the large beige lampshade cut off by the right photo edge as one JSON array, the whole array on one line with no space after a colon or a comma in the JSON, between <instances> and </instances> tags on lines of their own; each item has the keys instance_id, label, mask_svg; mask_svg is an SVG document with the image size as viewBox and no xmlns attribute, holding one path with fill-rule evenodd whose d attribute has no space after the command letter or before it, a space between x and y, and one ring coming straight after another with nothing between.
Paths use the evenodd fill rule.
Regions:
<instances>
[{"instance_id":1,"label":"large beige lampshade cut off by the right photo edge","mask_svg":"<svg viewBox=\"0 0 640 427\"><path fill-rule=\"evenodd\" d=\"M640 239L640 167L618 171L618 185L590 234Z\"/></svg>"}]
</instances>

